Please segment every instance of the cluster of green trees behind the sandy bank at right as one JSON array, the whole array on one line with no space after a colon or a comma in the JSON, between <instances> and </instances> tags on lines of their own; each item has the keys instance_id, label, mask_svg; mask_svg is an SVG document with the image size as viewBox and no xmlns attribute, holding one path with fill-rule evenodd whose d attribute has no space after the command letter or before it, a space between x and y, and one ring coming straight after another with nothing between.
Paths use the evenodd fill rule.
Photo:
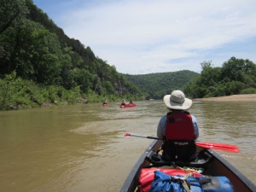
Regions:
<instances>
[{"instance_id":1,"label":"cluster of green trees behind the sandy bank at right","mask_svg":"<svg viewBox=\"0 0 256 192\"><path fill-rule=\"evenodd\" d=\"M231 57L222 67L201 63L201 75L184 88L192 98L256 93L256 65L253 61Z\"/></svg>"}]
</instances>

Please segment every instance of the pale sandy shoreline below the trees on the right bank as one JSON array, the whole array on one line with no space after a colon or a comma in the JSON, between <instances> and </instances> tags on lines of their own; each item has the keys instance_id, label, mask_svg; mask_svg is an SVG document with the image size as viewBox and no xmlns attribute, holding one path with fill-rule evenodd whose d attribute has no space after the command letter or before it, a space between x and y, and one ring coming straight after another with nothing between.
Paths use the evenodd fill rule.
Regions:
<instances>
[{"instance_id":1,"label":"pale sandy shoreline below the trees on the right bank","mask_svg":"<svg viewBox=\"0 0 256 192\"><path fill-rule=\"evenodd\" d=\"M216 101L216 102L256 102L256 94L218 96L209 98L198 98L193 101Z\"/></svg>"}]
</instances>

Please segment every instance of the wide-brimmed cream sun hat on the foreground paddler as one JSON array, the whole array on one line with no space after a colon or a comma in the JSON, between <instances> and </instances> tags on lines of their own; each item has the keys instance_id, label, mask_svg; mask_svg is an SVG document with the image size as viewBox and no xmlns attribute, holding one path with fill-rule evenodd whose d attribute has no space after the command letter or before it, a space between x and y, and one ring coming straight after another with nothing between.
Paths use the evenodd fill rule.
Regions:
<instances>
[{"instance_id":1,"label":"wide-brimmed cream sun hat on the foreground paddler","mask_svg":"<svg viewBox=\"0 0 256 192\"><path fill-rule=\"evenodd\" d=\"M171 95L164 96L164 102L167 108L177 110L187 110L192 106L192 100L186 98L181 90L173 90Z\"/></svg>"}]
</instances>

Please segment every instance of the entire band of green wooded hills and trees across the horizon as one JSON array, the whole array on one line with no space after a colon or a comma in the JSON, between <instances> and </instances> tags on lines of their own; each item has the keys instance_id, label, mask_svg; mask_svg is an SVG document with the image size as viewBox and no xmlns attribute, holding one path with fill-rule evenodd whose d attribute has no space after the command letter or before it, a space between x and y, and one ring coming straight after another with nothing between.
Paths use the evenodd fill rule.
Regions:
<instances>
[{"instance_id":1,"label":"entire band of green wooded hills and trees across the horizon","mask_svg":"<svg viewBox=\"0 0 256 192\"><path fill-rule=\"evenodd\" d=\"M89 46L68 38L32 0L0 0L0 109L162 99L172 90L202 98L256 93L256 67L231 57L222 67L122 74Z\"/></svg>"}]
</instances>

